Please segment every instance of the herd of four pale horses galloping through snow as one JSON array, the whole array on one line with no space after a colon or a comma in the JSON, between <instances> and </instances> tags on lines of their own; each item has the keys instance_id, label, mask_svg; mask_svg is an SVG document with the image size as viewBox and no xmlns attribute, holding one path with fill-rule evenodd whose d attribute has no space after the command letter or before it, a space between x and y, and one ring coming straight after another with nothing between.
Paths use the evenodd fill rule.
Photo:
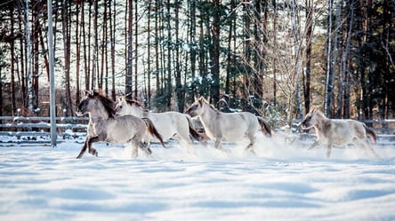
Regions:
<instances>
[{"instance_id":1,"label":"herd of four pale horses galloping through snow","mask_svg":"<svg viewBox=\"0 0 395 221\"><path fill-rule=\"evenodd\" d=\"M246 151L254 153L256 132L262 131L266 137L271 137L274 130L262 117L249 112L222 113L200 97L187 109L185 114L179 112L152 113L145 110L137 100L121 97L117 102L106 97L101 90L85 91L85 97L77 107L77 115L89 114L87 136L77 158L81 158L86 149L93 155L98 155L93 148L95 142L128 144L132 148L132 157L138 156L139 149L146 155L152 154L149 142L160 142L167 148L164 141L176 136L186 143L187 148L193 148L193 140L206 146L206 139L214 141L214 147L222 149L221 142L236 142L248 138ZM203 124L206 136L195 130L192 117L198 117ZM332 146L355 146L369 149L375 157L373 147L367 141L367 136L373 143L376 134L363 122L345 120L333 121L314 108L306 114L301 122L303 130L315 129L317 140L309 149L326 144L326 156L330 157Z\"/></svg>"}]
</instances>

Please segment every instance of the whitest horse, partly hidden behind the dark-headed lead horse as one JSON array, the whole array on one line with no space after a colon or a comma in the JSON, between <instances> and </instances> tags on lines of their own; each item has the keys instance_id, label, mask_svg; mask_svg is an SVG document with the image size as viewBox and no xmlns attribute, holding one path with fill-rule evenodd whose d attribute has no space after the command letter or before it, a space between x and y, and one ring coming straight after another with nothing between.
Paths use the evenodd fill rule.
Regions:
<instances>
[{"instance_id":1,"label":"whitest horse, partly hidden behind the dark-headed lead horse","mask_svg":"<svg viewBox=\"0 0 395 221\"><path fill-rule=\"evenodd\" d=\"M116 113L118 115L132 114L137 117L147 117L151 120L164 140L178 136L189 146L192 145L190 137L205 144L205 140L194 129L189 116L179 112L168 111L164 113L151 113L143 109L141 103L135 99L117 99ZM189 137L190 135L190 137Z\"/></svg>"}]
</instances>

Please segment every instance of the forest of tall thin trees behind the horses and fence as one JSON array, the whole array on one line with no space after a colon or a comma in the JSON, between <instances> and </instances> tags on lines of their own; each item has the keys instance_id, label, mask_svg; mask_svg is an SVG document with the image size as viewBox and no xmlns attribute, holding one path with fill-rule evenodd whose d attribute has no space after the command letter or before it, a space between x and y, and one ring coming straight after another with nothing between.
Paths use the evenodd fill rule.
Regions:
<instances>
[{"instance_id":1,"label":"forest of tall thin trees behind the horses and fence","mask_svg":"<svg viewBox=\"0 0 395 221\"><path fill-rule=\"evenodd\" d=\"M394 26L393 0L52 0L52 18L4 0L0 115L49 115L53 48L57 115L101 88L156 112L204 96L272 121L393 118Z\"/></svg>"}]
</instances>

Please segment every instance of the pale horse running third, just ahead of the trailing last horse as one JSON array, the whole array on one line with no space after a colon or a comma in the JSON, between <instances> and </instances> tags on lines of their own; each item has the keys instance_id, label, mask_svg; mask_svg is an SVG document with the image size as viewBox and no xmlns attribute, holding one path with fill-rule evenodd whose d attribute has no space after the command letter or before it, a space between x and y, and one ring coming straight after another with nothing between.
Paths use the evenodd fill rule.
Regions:
<instances>
[{"instance_id":1,"label":"pale horse running third, just ahead of the trailing last horse","mask_svg":"<svg viewBox=\"0 0 395 221\"><path fill-rule=\"evenodd\" d=\"M200 97L185 112L191 117L198 116L208 138L214 140L214 147L221 148L222 141L238 141L247 137L250 141L246 150L254 153L256 131L261 126L262 133L271 136L270 124L249 112L222 113Z\"/></svg>"}]
</instances>

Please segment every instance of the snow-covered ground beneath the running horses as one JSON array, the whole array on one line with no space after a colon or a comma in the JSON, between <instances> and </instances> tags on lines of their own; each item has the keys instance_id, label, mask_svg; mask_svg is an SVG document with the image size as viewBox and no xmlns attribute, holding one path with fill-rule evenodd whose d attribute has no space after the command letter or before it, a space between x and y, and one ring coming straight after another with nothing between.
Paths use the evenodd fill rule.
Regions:
<instances>
[{"instance_id":1,"label":"snow-covered ground beneath the running horses","mask_svg":"<svg viewBox=\"0 0 395 221\"><path fill-rule=\"evenodd\" d=\"M379 141L380 142L380 141ZM381 159L349 146L259 138L256 154L81 144L0 147L0 220L395 220L395 146Z\"/></svg>"}]
</instances>

